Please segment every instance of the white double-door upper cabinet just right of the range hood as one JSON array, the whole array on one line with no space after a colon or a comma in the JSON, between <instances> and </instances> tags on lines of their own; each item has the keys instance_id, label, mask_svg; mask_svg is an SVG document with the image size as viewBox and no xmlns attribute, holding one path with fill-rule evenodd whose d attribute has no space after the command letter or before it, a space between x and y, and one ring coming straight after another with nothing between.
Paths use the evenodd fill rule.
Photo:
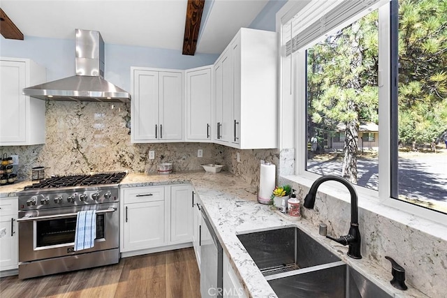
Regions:
<instances>
[{"instance_id":1,"label":"white double-door upper cabinet just right of the range hood","mask_svg":"<svg viewBox=\"0 0 447 298\"><path fill-rule=\"evenodd\" d=\"M132 142L182 142L183 71L133 67L131 73Z\"/></svg>"}]
</instances>

